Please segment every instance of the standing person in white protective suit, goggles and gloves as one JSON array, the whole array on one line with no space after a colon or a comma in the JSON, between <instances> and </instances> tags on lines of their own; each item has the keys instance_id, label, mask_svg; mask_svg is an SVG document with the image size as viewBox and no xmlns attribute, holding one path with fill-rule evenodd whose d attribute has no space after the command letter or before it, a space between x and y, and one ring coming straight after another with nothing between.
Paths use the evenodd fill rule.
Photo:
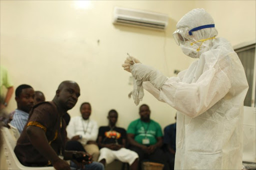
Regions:
<instances>
[{"instance_id":1,"label":"standing person in white protective suit, goggles and gloves","mask_svg":"<svg viewBox=\"0 0 256 170\"><path fill-rule=\"evenodd\" d=\"M248 90L242 64L224 38L217 38L212 17L193 9L177 23L173 37L184 54L198 58L177 77L127 57L122 67L143 88L176 109L175 170L241 170L243 100ZM142 85L143 82L143 86Z\"/></svg>"}]
</instances>

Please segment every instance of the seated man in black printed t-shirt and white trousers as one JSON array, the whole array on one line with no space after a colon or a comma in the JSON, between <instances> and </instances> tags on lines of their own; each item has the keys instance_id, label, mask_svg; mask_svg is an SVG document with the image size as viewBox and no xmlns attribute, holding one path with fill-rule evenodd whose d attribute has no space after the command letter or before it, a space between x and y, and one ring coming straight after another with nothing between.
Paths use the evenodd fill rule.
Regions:
<instances>
[{"instance_id":1,"label":"seated man in black printed t-shirt and white trousers","mask_svg":"<svg viewBox=\"0 0 256 170\"><path fill-rule=\"evenodd\" d=\"M129 163L131 170L138 168L138 155L125 149L126 131L123 128L115 126L118 114L115 110L108 112L108 126L101 126L98 133L99 150L98 161L105 164L110 164L114 160L119 160L123 163Z\"/></svg>"}]
</instances>

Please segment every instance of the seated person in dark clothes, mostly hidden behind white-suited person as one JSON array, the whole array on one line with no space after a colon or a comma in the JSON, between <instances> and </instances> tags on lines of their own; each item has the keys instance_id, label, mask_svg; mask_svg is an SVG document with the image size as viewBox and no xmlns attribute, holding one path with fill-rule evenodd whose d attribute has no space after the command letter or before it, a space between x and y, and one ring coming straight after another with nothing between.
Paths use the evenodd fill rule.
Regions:
<instances>
[{"instance_id":1,"label":"seated person in dark clothes, mostly hidden behind white-suited person","mask_svg":"<svg viewBox=\"0 0 256 170\"><path fill-rule=\"evenodd\" d=\"M163 132L163 151L165 153L165 157L167 158L167 163L169 164L170 170L174 170L176 152L176 122L166 126Z\"/></svg>"}]
</instances>

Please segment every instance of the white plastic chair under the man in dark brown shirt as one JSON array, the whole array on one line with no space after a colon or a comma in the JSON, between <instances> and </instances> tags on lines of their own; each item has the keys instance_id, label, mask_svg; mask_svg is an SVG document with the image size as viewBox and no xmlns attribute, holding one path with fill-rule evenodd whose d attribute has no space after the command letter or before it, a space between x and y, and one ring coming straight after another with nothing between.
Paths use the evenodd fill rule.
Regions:
<instances>
[{"instance_id":1,"label":"white plastic chair under the man in dark brown shirt","mask_svg":"<svg viewBox=\"0 0 256 170\"><path fill-rule=\"evenodd\" d=\"M13 140L14 137L10 133L9 129L6 127L1 128L1 133L3 139L2 148L8 166L8 170L55 170L53 167L25 167L22 164L20 164L13 151L16 145L16 141Z\"/></svg>"}]
</instances>

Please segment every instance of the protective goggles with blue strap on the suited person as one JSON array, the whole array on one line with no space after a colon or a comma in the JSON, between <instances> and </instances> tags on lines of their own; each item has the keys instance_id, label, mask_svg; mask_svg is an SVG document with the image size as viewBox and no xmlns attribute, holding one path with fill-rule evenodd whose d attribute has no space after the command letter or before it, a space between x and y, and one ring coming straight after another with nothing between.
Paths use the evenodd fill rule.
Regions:
<instances>
[{"instance_id":1,"label":"protective goggles with blue strap on the suited person","mask_svg":"<svg viewBox=\"0 0 256 170\"><path fill-rule=\"evenodd\" d=\"M197 31L197 30L204 29L204 28L211 28L211 27L214 27L214 24L198 26L193 29L190 29L189 31L185 30L184 28L183 29L181 28L181 29L175 30L172 33L172 36L173 36L175 42L177 43L177 45L180 45L180 44L183 45L185 43L185 41L188 40L185 37L189 37L189 35L192 35L193 31Z\"/></svg>"}]
</instances>

